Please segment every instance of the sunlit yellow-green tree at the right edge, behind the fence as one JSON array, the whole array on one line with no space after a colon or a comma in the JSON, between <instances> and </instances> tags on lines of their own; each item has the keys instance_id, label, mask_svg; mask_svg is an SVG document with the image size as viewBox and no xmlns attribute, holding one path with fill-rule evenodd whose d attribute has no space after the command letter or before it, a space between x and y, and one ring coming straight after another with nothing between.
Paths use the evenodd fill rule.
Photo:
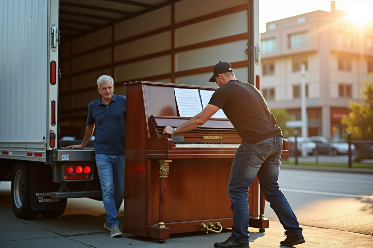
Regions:
<instances>
[{"instance_id":1,"label":"sunlit yellow-green tree at the right edge, behind the fence","mask_svg":"<svg viewBox=\"0 0 373 248\"><path fill-rule=\"evenodd\" d=\"M373 73L370 73L372 83L364 79L364 90L361 103L350 101L348 108L351 112L344 116L341 123L347 125L352 139L373 139Z\"/></svg>"}]
</instances>

